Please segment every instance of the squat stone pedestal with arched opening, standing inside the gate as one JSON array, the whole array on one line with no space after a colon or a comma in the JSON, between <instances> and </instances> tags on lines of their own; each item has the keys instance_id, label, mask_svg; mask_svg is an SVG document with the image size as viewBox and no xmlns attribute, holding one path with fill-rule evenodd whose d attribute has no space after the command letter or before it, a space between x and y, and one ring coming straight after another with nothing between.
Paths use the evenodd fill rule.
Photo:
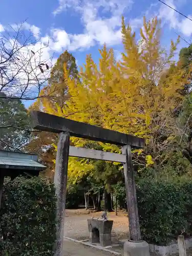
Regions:
<instances>
[{"instance_id":1,"label":"squat stone pedestal with arched opening, standing inside the gate","mask_svg":"<svg viewBox=\"0 0 192 256\"><path fill-rule=\"evenodd\" d=\"M100 243L105 247L112 244L111 231L113 221L102 219L88 219L88 228L91 243Z\"/></svg>"}]
</instances>

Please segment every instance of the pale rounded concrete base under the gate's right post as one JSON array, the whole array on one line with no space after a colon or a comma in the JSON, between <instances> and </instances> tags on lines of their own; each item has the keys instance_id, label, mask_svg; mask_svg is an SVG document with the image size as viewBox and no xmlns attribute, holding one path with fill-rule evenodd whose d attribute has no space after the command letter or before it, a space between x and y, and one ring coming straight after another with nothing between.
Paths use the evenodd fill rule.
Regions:
<instances>
[{"instance_id":1,"label":"pale rounded concrete base under the gate's right post","mask_svg":"<svg viewBox=\"0 0 192 256\"><path fill-rule=\"evenodd\" d=\"M150 249L145 241L126 241L123 246L124 256L150 256Z\"/></svg>"}]
</instances>

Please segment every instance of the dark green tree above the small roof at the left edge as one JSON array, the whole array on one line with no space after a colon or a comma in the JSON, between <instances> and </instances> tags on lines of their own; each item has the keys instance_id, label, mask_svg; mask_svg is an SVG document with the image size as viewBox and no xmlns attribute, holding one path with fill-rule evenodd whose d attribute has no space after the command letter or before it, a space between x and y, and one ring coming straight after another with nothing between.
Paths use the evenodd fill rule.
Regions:
<instances>
[{"instance_id":1,"label":"dark green tree above the small roof at the left edge","mask_svg":"<svg viewBox=\"0 0 192 256\"><path fill-rule=\"evenodd\" d=\"M29 138L30 120L22 101L0 97L0 149L23 151Z\"/></svg>"}]
</instances>

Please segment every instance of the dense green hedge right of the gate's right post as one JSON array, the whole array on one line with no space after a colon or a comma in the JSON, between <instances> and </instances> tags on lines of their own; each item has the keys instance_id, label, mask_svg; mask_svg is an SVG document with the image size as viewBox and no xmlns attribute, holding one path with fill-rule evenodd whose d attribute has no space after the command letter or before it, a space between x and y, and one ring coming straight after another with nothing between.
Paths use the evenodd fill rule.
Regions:
<instances>
[{"instance_id":1,"label":"dense green hedge right of the gate's right post","mask_svg":"<svg viewBox=\"0 0 192 256\"><path fill-rule=\"evenodd\" d=\"M183 233L192 235L192 183L143 180L137 184L142 238L166 245Z\"/></svg>"}]
</instances>

